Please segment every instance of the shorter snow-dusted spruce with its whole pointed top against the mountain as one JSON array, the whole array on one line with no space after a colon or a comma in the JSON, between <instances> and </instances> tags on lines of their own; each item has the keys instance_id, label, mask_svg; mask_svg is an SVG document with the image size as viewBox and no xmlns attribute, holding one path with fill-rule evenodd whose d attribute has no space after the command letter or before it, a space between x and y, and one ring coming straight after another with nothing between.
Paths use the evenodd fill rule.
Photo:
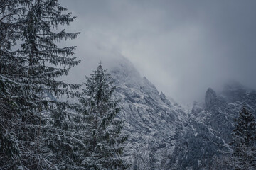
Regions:
<instances>
[{"instance_id":1,"label":"shorter snow-dusted spruce with its whole pointed top against the mountain","mask_svg":"<svg viewBox=\"0 0 256 170\"><path fill-rule=\"evenodd\" d=\"M121 107L114 98L110 74L100 64L86 78L86 88L80 98L87 120L85 135L86 169L126 169L128 164L122 159L123 143L127 135L122 134L122 121L117 118Z\"/></svg>"}]
</instances>

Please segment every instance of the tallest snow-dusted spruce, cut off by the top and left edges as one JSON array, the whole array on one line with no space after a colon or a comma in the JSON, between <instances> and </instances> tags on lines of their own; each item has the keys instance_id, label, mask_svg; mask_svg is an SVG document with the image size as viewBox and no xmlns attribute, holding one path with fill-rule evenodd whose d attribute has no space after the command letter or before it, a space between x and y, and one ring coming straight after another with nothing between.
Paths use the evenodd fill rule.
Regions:
<instances>
[{"instance_id":1,"label":"tallest snow-dusted spruce, cut off by the top and left edges","mask_svg":"<svg viewBox=\"0 0 256 170\"><path fill-rule=\"evenodd\" d=\"M0 168L82 169L78 105L46 96L80 95L56 80L80 62L75 47L58 47L78 35L56 29L75 17L58 0L4 0L0 10Z\"/></svg>"}]
</instances>

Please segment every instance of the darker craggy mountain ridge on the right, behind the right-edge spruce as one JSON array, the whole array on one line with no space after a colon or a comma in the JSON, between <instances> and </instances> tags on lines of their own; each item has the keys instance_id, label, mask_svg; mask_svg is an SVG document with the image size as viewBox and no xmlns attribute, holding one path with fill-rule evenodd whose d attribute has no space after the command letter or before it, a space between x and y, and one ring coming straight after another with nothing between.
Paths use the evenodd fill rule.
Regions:
<instances>
[{"instance_id":1,"label":"darker craggy mountain ridge on the right, behind the right-edge spruce","mask_svg":"<svg viewBox=\"0 0 256 170\"><path fill-rule=\"evenodd\" d=\"M255 113L256 92L227 84L220 94L206 91L204 103L194 103L188 126L171 154L169 169L221 169L217 159L228 151L233 123L242 106Z\"/></svg>"}]
</instances>

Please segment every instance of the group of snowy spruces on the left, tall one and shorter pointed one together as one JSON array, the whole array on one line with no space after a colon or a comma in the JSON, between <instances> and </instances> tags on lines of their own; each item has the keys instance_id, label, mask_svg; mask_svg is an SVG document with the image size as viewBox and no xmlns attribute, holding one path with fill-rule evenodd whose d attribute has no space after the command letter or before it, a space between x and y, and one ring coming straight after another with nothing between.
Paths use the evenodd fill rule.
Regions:
<instances>
[{"instance_id":1,"label":"group of snowy spruces on the left, tall one and shorter pointed one together","mask_svg":"<svg viewBox=\"0 0 256 170\"><path fill-rule=\"evenodd\" d=\"M75 46L57 45L78 36L57 29L75 17L58 0L0 3L0 169L127 167L120 157L123 148L118 147L127 139L120 131L122 122L116 120L120 108L112 101L114 89L103 69L104 82L94 85L107 87L107 94L97 98L99 106L87 104L94 97L90 98L89 89L96 88L90 85L93 74L87 79L81 103L58 100L63 95L81 97L77 90L82 84L56 79L80 62L72 57ZM93 116L98 118L97 125L91 122L95 122Z\"/></svg>"}]
</instances>

